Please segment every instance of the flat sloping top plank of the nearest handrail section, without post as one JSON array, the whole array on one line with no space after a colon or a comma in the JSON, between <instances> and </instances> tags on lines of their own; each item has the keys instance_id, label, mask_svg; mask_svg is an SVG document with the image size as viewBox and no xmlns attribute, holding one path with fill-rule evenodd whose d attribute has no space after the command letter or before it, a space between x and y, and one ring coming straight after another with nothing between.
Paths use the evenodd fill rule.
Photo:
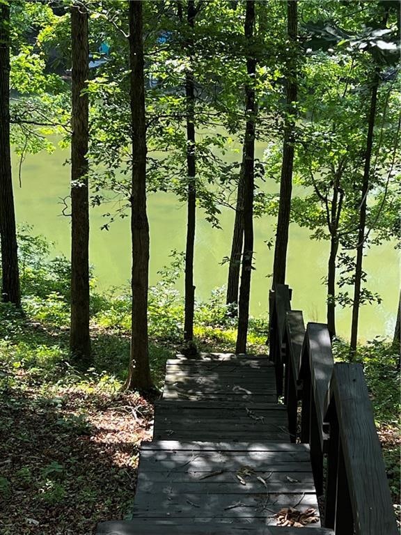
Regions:
<instances>
[{"instance_id":1,"label":"flat sloping top plank of the nearest handrail section, without post","mask_svg":"<svg viewBox=\"0 0 401 535\"><path fill-rule=\"evenodd\" d=\"M356 534L398 533L386 470L361 364L336 364L330 385Z\"/></svg>"}]
</instances>

